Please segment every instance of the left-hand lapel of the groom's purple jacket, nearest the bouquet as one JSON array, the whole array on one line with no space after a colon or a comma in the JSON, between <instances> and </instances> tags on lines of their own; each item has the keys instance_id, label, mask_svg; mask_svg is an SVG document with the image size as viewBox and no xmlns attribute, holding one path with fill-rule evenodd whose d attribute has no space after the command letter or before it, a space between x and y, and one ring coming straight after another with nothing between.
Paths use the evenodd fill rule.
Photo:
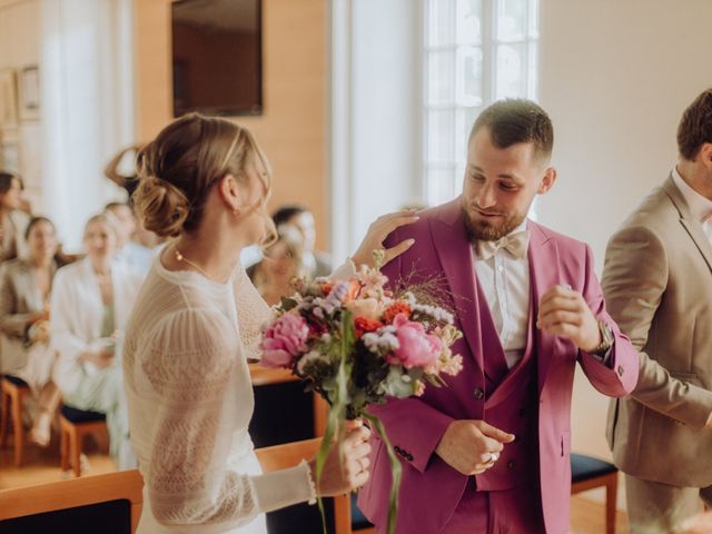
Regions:
<instances>
[{"instance_id":1,"label":"left-hand lapel of the groom's purple jacket, nearest the bouquet","mask_svg":"<svg viewBox=\"0 0 712 534\"><path fill-rule=\"evenodd\" d=\"M463 221L459 197L433 220L433 243L457 308L459 326L479 369L484 370L482 327L472 246Z\"/></svg>"}]
</instances>

